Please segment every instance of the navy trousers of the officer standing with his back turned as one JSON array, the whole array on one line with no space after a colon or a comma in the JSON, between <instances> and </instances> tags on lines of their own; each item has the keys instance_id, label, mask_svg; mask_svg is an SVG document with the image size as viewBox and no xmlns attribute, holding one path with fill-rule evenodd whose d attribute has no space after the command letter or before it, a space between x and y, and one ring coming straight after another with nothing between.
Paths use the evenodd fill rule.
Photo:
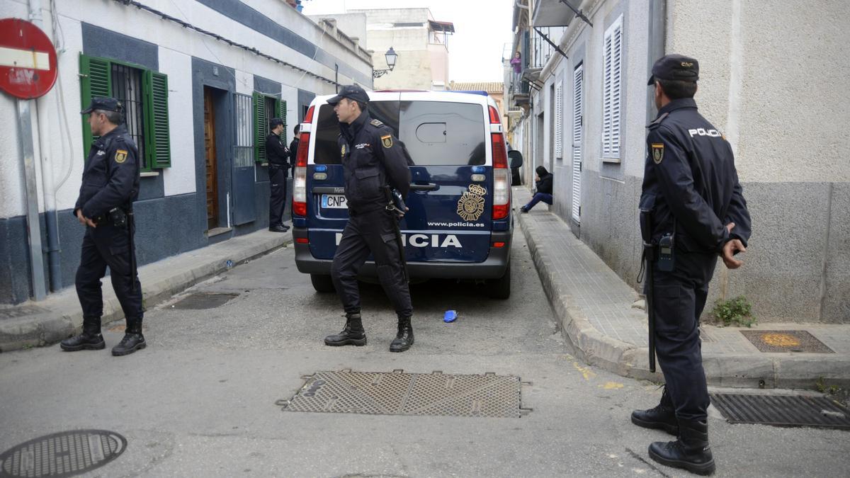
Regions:
<instances>
[{"instance_id":1,"label":"navy trousers of the officer standing with his back turned","mask_svg":"<svg viewBox=\"0 0 850 478\"><path fill-rule=\"evenodd\" d=\"M700 349L700 315L717 254L676 251L672 272L653 264L655 352L676 416L705 420L709 398Z\"/></svg>"}]
</instances>

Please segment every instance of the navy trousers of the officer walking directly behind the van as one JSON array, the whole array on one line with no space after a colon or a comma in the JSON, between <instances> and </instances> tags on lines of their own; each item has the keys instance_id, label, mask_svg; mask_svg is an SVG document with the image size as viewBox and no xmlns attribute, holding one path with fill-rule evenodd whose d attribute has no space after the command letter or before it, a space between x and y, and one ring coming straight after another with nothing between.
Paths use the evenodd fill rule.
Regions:
<instances>
[{"instance_id":1,"label":"navy trousers of the officer walking directly behind the van","mask_svg":"<svg viewBox=\"0 0 850 478\"><path fill-rule=\"evenodd\" d=\"M395 236L395 217L386 209L354 213L349 209L348 224L331 265L331 279L346 313L360 312L357 274L371 253L377 277L399 317L413 314L411 293L399 258L400 244Z\"/></svg>"}]
</instances>

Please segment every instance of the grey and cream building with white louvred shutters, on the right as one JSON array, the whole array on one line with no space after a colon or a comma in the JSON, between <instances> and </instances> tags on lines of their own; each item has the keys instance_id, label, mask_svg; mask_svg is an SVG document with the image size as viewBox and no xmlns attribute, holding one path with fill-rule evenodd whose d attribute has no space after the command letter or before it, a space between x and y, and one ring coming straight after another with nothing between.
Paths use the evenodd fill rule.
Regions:
<instances>
[{"instance_id":1,"label":"grey and cream building with white louvred shutters, on the right","mask_svg":"<svg viewBox=\"0 0 850 478\"><path fill-rule=\"evenodd\" d=\"M551 210L638 288L649 69L664 54L692 56L695 100L733 146L753 223L744 267L718 266L706 313L745 295L761 322L850 323L850 65L830 60L850 42L846 6L570 3L587 21L558 0L514 9L510 53L523 73L506 81L506 101L521 110L511 128L525 182L537 165L553 172Z\"/></svg>"}]
</instances>

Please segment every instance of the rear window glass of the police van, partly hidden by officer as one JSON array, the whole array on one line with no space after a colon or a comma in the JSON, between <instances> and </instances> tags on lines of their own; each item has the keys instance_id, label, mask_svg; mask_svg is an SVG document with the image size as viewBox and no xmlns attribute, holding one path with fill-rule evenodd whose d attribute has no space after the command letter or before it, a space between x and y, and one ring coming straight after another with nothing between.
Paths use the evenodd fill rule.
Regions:
<instances>
[{"instance_id":1,"label":"rear window glass of the police van, partly hidden by officer","mask_svg":"<svg viewBox=\"0 0 850 478\"><path fill-rule=\"evenodd\" d=\"M486 161L484 109L446 101L373 101L369 114L393 129L416 166L480 165ZM339 122L333 106L319 109L314 162L339 164Z\"/></svg>"}]
</instances>

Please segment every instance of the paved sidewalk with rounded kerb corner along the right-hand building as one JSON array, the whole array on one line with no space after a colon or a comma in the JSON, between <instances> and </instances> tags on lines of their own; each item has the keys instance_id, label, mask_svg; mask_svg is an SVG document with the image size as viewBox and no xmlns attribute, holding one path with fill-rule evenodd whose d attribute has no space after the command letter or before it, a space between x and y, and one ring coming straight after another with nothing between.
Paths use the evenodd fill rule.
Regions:
<instances>
[{"instance_id":1,"label":"paved sidewalk with rounded kerb corner along the right-hand building","mask_svg":"<svg viewBox=\"0 0 850 478\"><path fill-rule=\"evenodd\" d=\"M549 213L545 203L530 213L519 213L530 197L525 187L514 187L514 212L564 336L576 353L588 364L626 377L663 381L660 369L649 373L647 316L635 306L643 304L638 302L642 298L577 239L569 225ZM819 378L827 384L850 384L850 325L765 322L751 328L704 325L700 330L711 385L813 388ZM805 331L832 353L762 352L742 331ZM771 341L763 333L756 335L755 340L774 344L785 338L776 334Z\"/></svg>"}]
</instances>

